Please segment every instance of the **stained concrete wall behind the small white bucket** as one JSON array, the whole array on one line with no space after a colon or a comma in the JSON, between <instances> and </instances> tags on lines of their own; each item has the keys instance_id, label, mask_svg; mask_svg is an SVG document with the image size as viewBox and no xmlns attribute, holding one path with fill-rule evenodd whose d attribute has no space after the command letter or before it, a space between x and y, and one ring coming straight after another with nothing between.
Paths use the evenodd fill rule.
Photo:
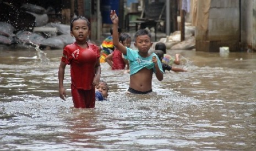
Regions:
<instances>
[{"instance_id":1,"label":"stained concrete wall behind the small white bucket","mask_svg":"<svg viewBox=\"0 0 256 151\"><path fill-rule=\"evenodd\" d=\"M198 10L202 9L201 2L198 1ZM205 17L205 14L200 14L204 15L201 18ZM239 51L239 0L211 0L208 15L208 28L196 31L196 36L200 37L196 38L197 51L219 51L224 46L230 47L230 51ZM198 26L201 26L200 22Z\"/></svg>"}]
</instances>

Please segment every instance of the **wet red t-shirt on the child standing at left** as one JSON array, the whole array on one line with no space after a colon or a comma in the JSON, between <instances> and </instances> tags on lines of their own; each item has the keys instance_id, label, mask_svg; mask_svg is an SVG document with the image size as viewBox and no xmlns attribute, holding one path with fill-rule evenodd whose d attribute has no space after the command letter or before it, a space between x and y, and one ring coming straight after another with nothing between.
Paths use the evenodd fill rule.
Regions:
<instances>
[{"instance_id":1,"label":"wet red t-shirt on the child standing at left","mask_svg":"<svg viewBox=\"0 0 256 151\"><path fill-rule=\"evenodd\" d=\"M71 82L77 89L91 90L95 76L95 65L100 57L99 48L88 43L88 48L77 43L64 47L62 61L70 65Z\"/></svg>"}]
</instances>

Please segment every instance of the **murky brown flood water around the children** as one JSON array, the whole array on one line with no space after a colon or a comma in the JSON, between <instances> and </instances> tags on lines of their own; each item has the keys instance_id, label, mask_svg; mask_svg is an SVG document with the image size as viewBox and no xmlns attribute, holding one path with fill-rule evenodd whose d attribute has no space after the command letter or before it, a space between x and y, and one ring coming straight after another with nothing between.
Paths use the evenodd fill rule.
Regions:
<instances>
[{"instance_id":1,"label":"murky brown flood water around the children","mask_svg":"<svg viewBox=\"0 0 256 151\"><path fill-rule=\"evenodd\" d=\"M108 101L76 109L58 97L62 50L0 50L0 150L255 150L256 54L180 53L188 72L155 75L126 95L129 75L102 63Z\"/></svg>"}]
</instances>

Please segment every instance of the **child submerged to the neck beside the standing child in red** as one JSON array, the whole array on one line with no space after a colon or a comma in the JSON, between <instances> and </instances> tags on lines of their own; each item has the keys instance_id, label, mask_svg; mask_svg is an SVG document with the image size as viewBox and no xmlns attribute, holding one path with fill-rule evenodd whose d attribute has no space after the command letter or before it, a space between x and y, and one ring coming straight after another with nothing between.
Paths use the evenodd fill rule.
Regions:
<instances>
[{"instance_id":1,"label":"child submerged to the neck beside the standing child in red","mask_svg":"<svg viewBox=\"0 0 256 151\"><path fill-rule=\"evenodd\" d=\"M98 85L95 86L95 98L96 101L104 101L108 96L108 86L105 81L101 81Z\"/></svg>"}]
</instances>

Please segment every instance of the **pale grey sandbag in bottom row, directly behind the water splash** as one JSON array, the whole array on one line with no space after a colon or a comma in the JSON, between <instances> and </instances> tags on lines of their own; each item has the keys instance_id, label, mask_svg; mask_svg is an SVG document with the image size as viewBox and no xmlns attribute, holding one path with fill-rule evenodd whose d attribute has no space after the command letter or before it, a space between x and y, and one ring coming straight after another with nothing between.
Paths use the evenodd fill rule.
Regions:
<instances>
[{"instance_id":1,"label":"pale grey sandbag in bottom row, directly behind the water splash","mask_svg":"<svg viewBox=\"0 0 256 151\"><path fill-rule=\"evenodd\" d=\"M30 45L41 45L42 41L45 39L40 34L32 33L29 31L19 31L16 34L17 42L25 43Z\"/></svg>"}]
</instances>

